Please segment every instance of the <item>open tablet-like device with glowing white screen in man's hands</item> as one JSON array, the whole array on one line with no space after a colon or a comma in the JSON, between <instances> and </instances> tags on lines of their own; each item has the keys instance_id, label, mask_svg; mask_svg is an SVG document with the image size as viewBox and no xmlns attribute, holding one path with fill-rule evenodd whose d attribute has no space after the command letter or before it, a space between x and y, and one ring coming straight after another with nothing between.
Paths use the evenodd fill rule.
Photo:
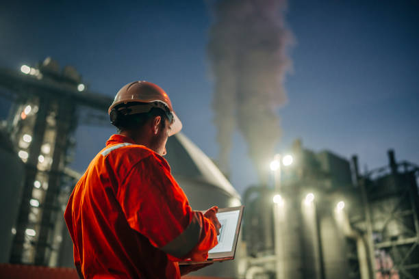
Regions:
<instances>
[{"instance_id":1,"label":"open tablet-like device with glowing white screen in man's hands","mask_svg":"<svg viewBox=\"0 0 419 279\"><path fill-rule=\"evenodd\" d=\"M208 251L207 261L182 261L179 265L193 265L199 263L212 263L216 261L232 260L236 254L240 226L242 224L243 208L227 207L218 209L216 216L221 224L220 235L217 235L218 244Z\"/></svg>"}]
</instances>

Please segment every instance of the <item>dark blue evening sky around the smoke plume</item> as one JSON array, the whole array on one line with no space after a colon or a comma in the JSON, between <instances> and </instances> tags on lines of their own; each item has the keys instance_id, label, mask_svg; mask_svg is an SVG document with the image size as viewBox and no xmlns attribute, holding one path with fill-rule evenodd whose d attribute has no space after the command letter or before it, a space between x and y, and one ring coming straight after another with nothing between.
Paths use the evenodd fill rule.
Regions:
<instances>
[{"instance_id":1,"label":"dark blue evening sky around the smoke plume","mask_svg":"<svg viewBox=\"0 0 419 279\"><path fill-rule=\"evenodd\" d=\"M183 133L216 157L210 3L7 1L0 9L0 66L18 70L51 56L75 66L89 90L108 96L129 81L157 83ZM277 111L283 130L277 150L301 138L315 151L359 155L362 170L385 165L388 148L396 159L419 164L418 15L413 0L290 1L293 67L284 84L288 103ZM0 108L5 118L7 103ZM111 126L79 127L72 167L83 172L112 133ZM236 133L231 183L241 194L257 181L246 152Z\"/></svg>"}]
</instances>

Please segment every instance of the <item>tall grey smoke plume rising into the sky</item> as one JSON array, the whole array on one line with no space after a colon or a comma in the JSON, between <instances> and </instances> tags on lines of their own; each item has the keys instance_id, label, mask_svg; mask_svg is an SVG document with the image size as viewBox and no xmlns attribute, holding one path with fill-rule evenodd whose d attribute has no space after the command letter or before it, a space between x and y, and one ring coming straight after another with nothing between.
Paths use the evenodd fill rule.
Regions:
<instances>
[{"instance_id":1,"label":"tall grey smoke plume rising into the sky","mask_svg":"<svg viewBox=\"0 0 419 279\"><path fill-rule=\"evenodd\" d=\"M281 136L275 110L286 102L283 89L292 44L285 27L285 0L214 1L208 57L215 81L214 123L221 170L229 170L232 137L242 133L264 183L267 162Z\"/></svg>"}]
</instances>

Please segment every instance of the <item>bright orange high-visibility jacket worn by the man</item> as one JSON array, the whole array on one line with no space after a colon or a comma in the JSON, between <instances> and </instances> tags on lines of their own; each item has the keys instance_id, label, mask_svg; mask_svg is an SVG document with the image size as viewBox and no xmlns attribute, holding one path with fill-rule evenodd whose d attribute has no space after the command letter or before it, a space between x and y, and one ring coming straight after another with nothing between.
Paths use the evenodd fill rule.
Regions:
<instances>
[{"instance_id":1,"label":"bright orange high-visibility jacket worn by the man","mask_svg":"<svg viewBox=\"0 0 419 279\"><path fill-rule=\"evenodd\" d=\"M112 135L68 200L64 218L84 278L180 278L177 261L207 258L214 224L192 211L167 161Z\"/></svg>"}]
</instances>

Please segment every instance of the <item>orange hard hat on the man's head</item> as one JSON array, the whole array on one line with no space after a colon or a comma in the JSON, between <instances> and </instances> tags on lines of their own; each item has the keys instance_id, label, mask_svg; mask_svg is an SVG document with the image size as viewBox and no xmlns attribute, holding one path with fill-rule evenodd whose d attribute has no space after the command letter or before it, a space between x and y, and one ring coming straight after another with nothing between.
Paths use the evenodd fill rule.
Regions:
<instances>
[{"instance_id":1,"label":"orange hard hat on the man's head","mask_svg":"<svg viewBox=\"0 0 419 279\"><path fill-rule=\"evenodd\" d=\"M111 114L112 109L118 107L118 105L127 103L148 103L151 107L164 107L164 109L170 111L170 114L173 115L169 136L175 135L175 133L178 133L182 129L182 122L176 116L170 98L160 86L154 83L148 81L134 81L124 85L123 88L120 88L118 93L116 93L114 102L110 105L107 113ZM132 111L131 114L147 112L138 109L132 109Z\"/></svg>"}]
</instances>

